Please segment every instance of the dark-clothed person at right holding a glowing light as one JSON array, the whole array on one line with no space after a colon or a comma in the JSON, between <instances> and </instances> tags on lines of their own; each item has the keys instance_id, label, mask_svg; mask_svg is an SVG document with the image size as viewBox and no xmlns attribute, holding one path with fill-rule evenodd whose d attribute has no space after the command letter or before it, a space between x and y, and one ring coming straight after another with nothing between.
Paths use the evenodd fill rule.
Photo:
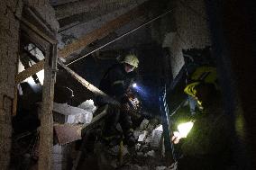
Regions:
<instances>
[{"instance_id":1,"label":"dark-clothed person at right holding a glowing light","mask_svg":"<svg viewBox=\"0 0 256 170\"><path fill-rule=\"evenodd\" d=\"M215 85L201 82L187 85L185 93L197 100L202 111L194 115L194 126L182 139L184 157L178 161L178 169L228 169L232 155L231 125L224 115L220 93ZM179 142L176 138L172 140Z\"/></svg>"}]
</instances>

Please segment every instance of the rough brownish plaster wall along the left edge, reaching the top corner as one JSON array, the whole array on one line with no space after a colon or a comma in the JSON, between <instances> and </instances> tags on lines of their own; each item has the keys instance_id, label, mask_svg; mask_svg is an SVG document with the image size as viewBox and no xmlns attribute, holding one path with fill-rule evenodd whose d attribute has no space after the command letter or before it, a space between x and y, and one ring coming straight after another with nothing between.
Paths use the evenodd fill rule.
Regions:
<instances>
[{"instance_id":1,"label":"rough brownish plaster wall along the left edge, reaching the top corner","mask_svg":"<svg viewBox=\"0 0 256 170\"><path fill-rule=\"evenodd\" d=\"M0 166L9 169L12 146L12 112L18 72L19 32L22 11L32 6L41 18L57 31L59 23L48 1L0 1Z\"/></svg>"}]
</instances>

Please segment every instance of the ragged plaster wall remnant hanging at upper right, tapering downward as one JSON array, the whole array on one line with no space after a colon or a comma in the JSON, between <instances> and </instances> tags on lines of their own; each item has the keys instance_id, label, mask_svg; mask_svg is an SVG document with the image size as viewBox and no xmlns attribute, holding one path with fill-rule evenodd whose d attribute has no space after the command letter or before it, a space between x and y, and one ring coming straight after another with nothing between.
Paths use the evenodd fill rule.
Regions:
<instances>
[{"instance_id":1,"label":"ragged plaster wall remnant hanging at upper right, tapering downward","mask_svg":"<svg viewBox=\"0 0 256 170\"><path fill-rule=\"evenodd\" d=\"M176 0L173 6L173 19L176 31L169 39L169 52L173 76L177 76L184 65L182 49L204 49L211 45L208 19L204 0Z\"/></svg>"}]
</instances>

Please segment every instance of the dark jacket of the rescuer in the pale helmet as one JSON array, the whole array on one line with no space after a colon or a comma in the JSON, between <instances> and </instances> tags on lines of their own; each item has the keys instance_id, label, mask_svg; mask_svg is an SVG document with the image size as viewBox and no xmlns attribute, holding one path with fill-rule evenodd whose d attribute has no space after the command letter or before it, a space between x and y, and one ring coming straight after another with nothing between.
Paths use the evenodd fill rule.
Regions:
<instances>
[{"instance_id":1,"label":"dark jacket of the rescuer in the pale helmet","mask_svg":"<svg viewBox=\"0 0 256 170\"><path fill-rule=\"evenodd\" d=\"M123 64L116 64L106 71L99 88L105 92L105 94L121 101L134 78L134 72L126 73Z\"/></svg>"}]
</instances>

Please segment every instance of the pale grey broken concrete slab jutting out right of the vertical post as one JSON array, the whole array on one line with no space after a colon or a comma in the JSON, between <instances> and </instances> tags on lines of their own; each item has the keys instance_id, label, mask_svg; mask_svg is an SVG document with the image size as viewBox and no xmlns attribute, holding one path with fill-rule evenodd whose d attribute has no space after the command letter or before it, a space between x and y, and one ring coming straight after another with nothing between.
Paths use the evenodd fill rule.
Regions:
<instances>
[{"instance_id":1,"label":"pale grey broken concrete slab jutting out right of the vertical post","mask_svg":"<svg viewBox=\"0 0 256 170\"><path fill-rule=\"evenodd\" d=\"M67 116L66 123L90 123L93 112L70 106L67 103L53 103L53 111Z\"/></svg>"}]
</instances>

